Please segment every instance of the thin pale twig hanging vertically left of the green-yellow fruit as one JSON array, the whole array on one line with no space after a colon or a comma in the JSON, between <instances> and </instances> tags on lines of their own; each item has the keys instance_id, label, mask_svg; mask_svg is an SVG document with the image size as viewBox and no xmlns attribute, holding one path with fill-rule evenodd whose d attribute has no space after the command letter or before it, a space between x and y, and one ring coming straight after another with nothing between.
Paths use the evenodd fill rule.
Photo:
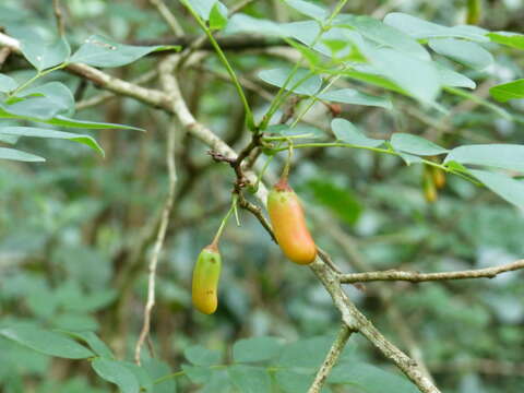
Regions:
<instances>
[{"instance_id":1,"label":"thin pale twig hanging vertically left of the green-yellow fruit","mask_svg":"<svg viewBox=\"0 0 524 393\"><path fill-rule=\"evenodd\" d=\"M151 329L151 311L155 306L156 267L158 264L158 258L160 255L162 248L164 246L166 230L169 224L169 214L171 212L172 203L175 200L175 187L177 183L177 169L175 165L175 144L176 144L175 139L176 139L176 129L172 126L167 132L167 152L166 152L167 168L169 174L169 191L164 205L164 210L162 212L160 226L158 227L158 234L157 234L155 246L153 249L153 255L150 262L150 269L148 269L150 276L148 276L148 283L147 283L147 302L144 308L144 323L142 325L142 331L140 332L139 341L136 342L136 346L134 348L134 361L139 366L140 366L140 359L141 359L140 354L141 354L142 345L147 338L150 329Z\"/></svg>"}]
</instances>

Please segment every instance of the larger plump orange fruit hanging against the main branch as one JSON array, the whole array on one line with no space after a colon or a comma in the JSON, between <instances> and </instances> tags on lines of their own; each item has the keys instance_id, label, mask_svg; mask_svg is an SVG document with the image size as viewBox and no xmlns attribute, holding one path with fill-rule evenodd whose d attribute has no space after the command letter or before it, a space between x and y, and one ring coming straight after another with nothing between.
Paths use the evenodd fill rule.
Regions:
<instances>
[{"instance_id":1,"label":"larger plump orange fruit hanging against the main branch","mask_svg":"<svg viewBox=\"0 0 524 393\"><path fill-rule=\"evenodd\" d=\"M317 257L317 246L306 226L303 210L287 180L281 179L267 195L273 231L284 254L293 262L308 264Z\"/></svg>"}]
</instances>

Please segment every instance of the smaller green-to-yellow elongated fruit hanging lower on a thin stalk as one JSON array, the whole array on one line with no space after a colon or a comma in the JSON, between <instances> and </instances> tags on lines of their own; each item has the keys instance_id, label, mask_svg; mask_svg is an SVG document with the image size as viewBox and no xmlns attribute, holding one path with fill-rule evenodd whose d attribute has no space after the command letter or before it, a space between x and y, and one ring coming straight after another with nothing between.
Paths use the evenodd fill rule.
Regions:
<instances>
[{"instance_id":1,"label":"smaller green-to-yellow elongated fruit hanging lower on a thin stalk","mask_svg":"<svg viewBox=\"0 0 524 393\"><path fill-rule=\"evenodd\" d=\"M217 290L222 258L215 245L205 247L193 270L192 299L200 312L212 314L218 305Z\"/></svg>"}]
</instances>

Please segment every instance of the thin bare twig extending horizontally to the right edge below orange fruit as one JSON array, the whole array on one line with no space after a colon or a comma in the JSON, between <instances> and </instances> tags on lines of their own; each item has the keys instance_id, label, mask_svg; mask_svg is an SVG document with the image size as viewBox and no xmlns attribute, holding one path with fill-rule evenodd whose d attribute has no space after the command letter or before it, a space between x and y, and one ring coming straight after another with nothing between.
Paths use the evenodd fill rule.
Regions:
<instances>
[{"instance_id":1,"label":"thin bare twig extending horizontally to the right edge below orange fruit","mask_svg":"<svg viewBox=\"0 0 524 393\"><path fill-rule=\"evenodd\" d=\"M513 272L520 269L524 269L524 260L519 260L499 266L458 272L418 273L389 270L381 272L349 273L341 275L341 283L350 284L376 281L407 281L412 283L421 283L441 279L493 278L498 274Z\"/></svg>"}]
</instances>

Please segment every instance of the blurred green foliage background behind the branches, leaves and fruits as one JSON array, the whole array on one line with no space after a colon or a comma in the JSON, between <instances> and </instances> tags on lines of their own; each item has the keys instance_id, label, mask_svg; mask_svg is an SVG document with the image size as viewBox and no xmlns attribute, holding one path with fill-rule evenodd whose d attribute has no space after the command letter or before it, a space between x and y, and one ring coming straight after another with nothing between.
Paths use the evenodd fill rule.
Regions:
<instances>
[{"instance_id":1,"label":"blurred green foliage background behind the branches, leaves and fruits","mask_svg":"<svg viewBox=\"0 0 524 393\"><path fill-rule=\"evenodd\" d=\"M178 1L166 3L191 37L200 34ZM521 0L481 3L479 26L523 32ZM128 44L176 41L146 0L69 0L62 1L62 8L73 46L92 34ZM445 25L465 23L468 14L465 0L355 0L345 9L379 19L392 11ZM299 17L279 1L254 1L245 12L277 21ZM3 0L0 25L11 34L28 25L47 32L55 26L50 2ZM257 79L257 72L286 61L273 56L274 49L248 46L227 51L236 70L257 91L248 94L257 114L266 108L264 95L275 93ZM496 83L524 76L522 52L495 46L493 50L495 66L468 73L481 97ZM156 63L151 56L110 73L134 80ZM25 60L12 56L1 72L23 81L32 71ZM222 66L210 55L183 70L179 80L195 117L238 151L249 133L236 92L222 75ZM50 80L59 80L75 94L76 118L132 124L147 132L92 132L106 158L67 141L22 140L22 150L46 156L47 163L0 163L0 326L37 321L49 327L93 330L117 354L131 358L142 324L147 257L167 195L166 130L174 124L165 114L133 99L102 99L102 91L66 72L41 82ZM156 84L153 75L147 85ZM392 99L392 111L343 105L341 116L376 136L386 138L393 131L422 133L444 146L524 142L522 102L507 106L517 119L509 121L489 108L445 94L441 103L452 108L445 119L408 98ZM307 119L327 129L332 114L318 105ZM338 313L311 271L286 261L245 212L241 227L230 221L222 240L224 267L216 314L194 311L193 263L227 212L234 182L230 168L214 163L206 151L179 130L176 204L158 265L152 327L157 356L172 370L179 368L182 350L190 344L227 354L242 337L272 335L294 342L331 334L338 326ZM272 162L269 181L279 172L284 158ZM302 150L291 170L291 186L307 205L317 243L344 272L479 269L524 254L522 212L460 178L448 177L438 201L428 203L422 168L405 166L395 157ZM348 285L347 293L389 338L421 356L443 392L516 393L524 389L522 279L516 272L495 279L369 283L365 288ZM391 368L359 337L352 337L349 346L373 365ZM186 389L181 391L196 391ZM110 389L93 382L93 373L82 366L51 360L0 338L0 391Z\"/></svg>"}]
</instances>

